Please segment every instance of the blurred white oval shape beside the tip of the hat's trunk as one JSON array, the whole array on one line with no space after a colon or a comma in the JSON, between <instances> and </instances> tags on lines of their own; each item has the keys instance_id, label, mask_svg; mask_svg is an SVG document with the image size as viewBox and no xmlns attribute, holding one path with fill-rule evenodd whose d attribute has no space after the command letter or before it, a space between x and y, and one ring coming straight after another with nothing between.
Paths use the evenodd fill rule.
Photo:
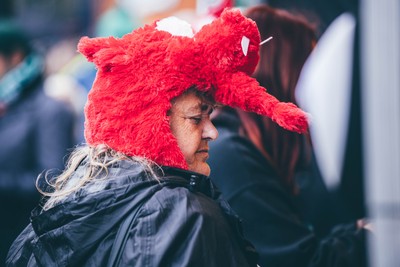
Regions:
<instances>
[{"instance_id":1,"label":"blurred white oval shape beside the tip of the hat's trunk","mask_svg":"<svg viewBox=\"0 0 400 267\"><path fill-rule=\"evenodd\" d=\"M356 21L344 13L324 32L303 67L296 98L312 116L310 134L328 189L337 187L348 132Z\"/></svg>"}]
</instances>

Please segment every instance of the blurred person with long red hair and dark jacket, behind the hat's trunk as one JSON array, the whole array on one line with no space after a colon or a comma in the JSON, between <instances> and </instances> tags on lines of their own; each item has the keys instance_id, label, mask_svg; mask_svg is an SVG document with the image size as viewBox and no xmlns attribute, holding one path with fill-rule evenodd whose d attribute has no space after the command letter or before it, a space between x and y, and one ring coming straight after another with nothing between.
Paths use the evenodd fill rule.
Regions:
<instances>
[{"instance_id":1,"label":"blurred person with long red hair and dark jacket, behind the hat's trunk","mask_svg":"<svg viewBox=\"0 0 400 267\"><path fill-rule=\"evenodd\" d=\"M300 72L316 44L314 27L266 5L245 13L262 40L273 37L261 46L253 77L280 101L296 103ZM365 265L363 221L334 224L334 203L309 136L230 107L219 110L213 123L219 139L210 144L210 177L242 218L261 266ZM324 216L328 221L321 221Z\"/></svg>"}]
</instances>

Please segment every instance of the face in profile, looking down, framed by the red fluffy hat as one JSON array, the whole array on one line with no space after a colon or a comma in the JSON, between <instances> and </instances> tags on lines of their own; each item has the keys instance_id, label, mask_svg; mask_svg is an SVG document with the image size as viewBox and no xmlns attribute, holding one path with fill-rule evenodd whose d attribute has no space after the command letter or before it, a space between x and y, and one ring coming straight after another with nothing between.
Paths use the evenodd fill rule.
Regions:
<instances>
[{"instance_id":1,"label":"face in profile, looking down, framed by the red fluffy hat","mask_svg":"<svg viewBox=\"0 0 400 267\"><path fill-rule=\"evenodd\" d=\"M177 97L169 113L172 134L178 141L190 171L210 175L208 142L218 137L211 123L211 104L203 102L195 93Z\"/></svg>"}]
</instances>

